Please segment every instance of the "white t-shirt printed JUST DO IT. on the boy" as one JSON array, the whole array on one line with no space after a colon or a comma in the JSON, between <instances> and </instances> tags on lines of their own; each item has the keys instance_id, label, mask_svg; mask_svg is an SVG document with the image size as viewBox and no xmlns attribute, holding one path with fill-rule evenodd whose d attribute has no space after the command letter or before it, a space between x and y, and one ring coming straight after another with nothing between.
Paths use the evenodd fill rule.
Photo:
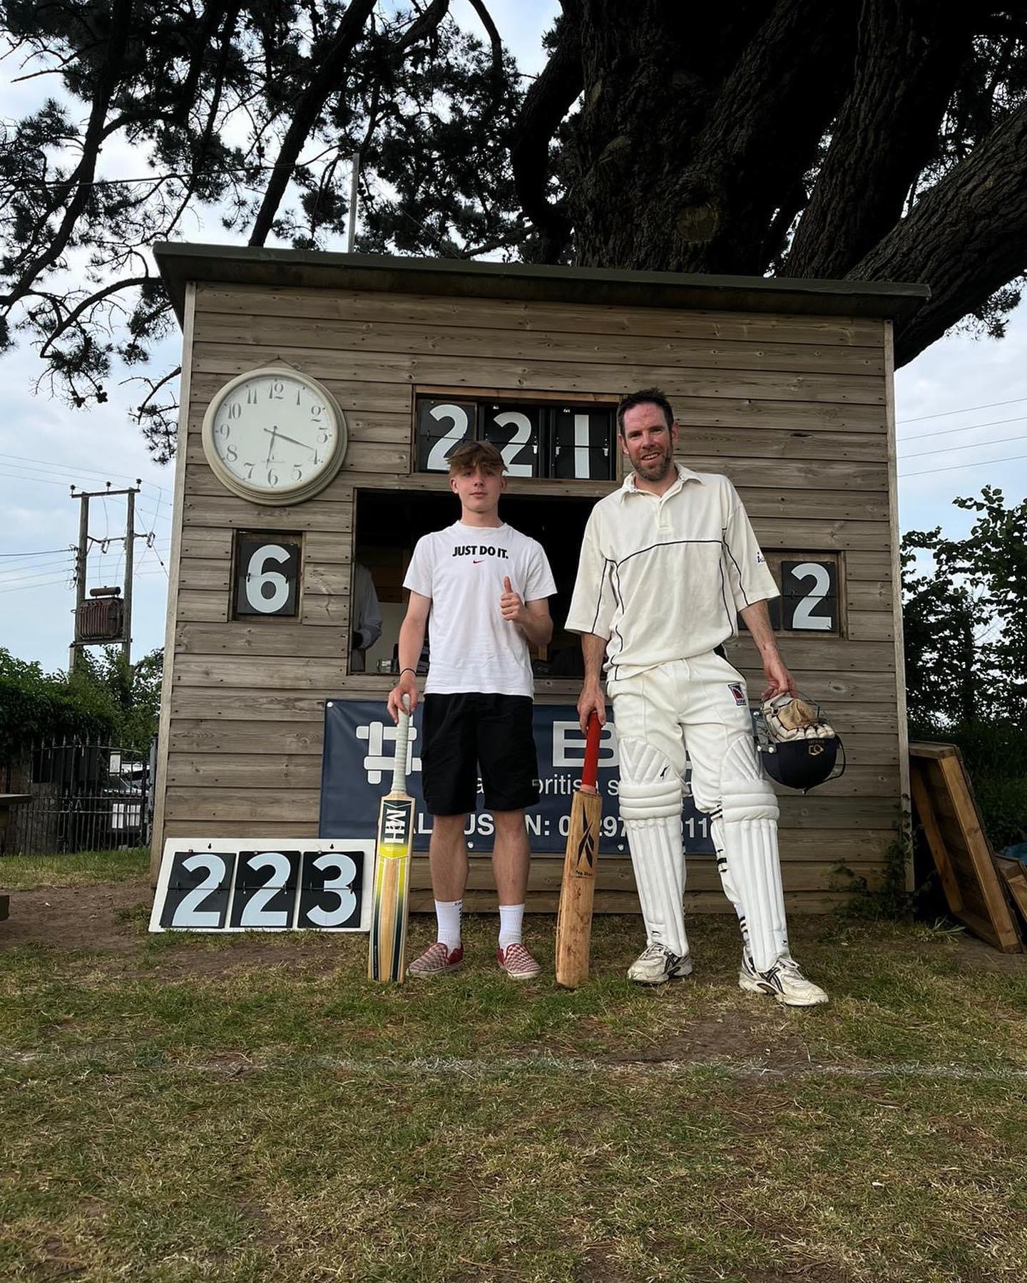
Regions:
<instances>
[{"instance_id":1,"label":"white t-shirt printed JUST DO IT. on the boy","mask_svg":"<svg viewBox=\"0 0 1027 1283\"><path fill-rule=\"evenodd\" d=\"M499 613L505 576L525 602L556 593L542 545L512 526L454 521L417 540L403 588L431 598L425 694L534 693L528 642Z\"/></svg>"}]
</instances>

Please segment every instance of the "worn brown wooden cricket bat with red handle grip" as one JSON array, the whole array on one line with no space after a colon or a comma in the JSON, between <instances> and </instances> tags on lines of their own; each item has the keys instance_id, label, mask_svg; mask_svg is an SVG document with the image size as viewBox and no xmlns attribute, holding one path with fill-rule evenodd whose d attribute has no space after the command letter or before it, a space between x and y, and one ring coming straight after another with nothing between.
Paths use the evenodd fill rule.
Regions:
<instances>
[{"instance_id":1,"label":"worn brown wooden cricket bat with red handle grip","mask_svg":"<svg viewBox=\"0 0 1027 1283\"><path fill-rule=\"evenodd\" d=\"M588 720L582 786L570 808L564 881L556 919L556 983L575 989L588 979L588 949L592 939L592 899L596 890L596 861L600 856L602 798L596 786L600 763L600 718Z\"/></svg>"}]
</instances>

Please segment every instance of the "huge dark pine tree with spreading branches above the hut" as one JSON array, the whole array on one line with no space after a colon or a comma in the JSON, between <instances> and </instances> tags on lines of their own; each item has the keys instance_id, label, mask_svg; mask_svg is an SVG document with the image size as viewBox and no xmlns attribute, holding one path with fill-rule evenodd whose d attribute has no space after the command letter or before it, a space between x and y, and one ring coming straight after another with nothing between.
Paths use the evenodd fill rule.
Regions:
<instances>
[{"instance_id":1,"label":"huge dark pine tree with spreading branches above the hut","mask_svg":"<svg viewBox=\"0 0 1027 1283\"><path fill-rule=\"evenodd\" d=\"M171 449L148 248L200 218L372 251L927 281L899 363L1000 334L1027 234L1024 0L561 0L528 87L449 0L12 0L39 104L0 140L6 328L74 404L119 367ZM126 172L127 171L127 172ZM172 376L173 377L173 376Z\"/></svg>"}]
</instances>

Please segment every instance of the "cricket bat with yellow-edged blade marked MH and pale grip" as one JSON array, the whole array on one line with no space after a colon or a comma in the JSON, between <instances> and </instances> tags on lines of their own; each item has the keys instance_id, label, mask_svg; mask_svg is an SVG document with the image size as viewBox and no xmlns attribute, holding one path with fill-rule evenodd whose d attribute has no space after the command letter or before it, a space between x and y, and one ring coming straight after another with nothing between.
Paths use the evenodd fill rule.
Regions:
<instances>
[{"instance_id":1,"label":"cricket bat with yellow-edged blade marked MH and pale grip","mask_svg":"<svg viewBox=\"0 0 1027 1283\"><path fill-rule=\"evenodd\" d=\"M413 798L407 793L408 707L410 695L404 695L395 729L393 786L377 812L368 980L398 981L407 974L410 854L413 847Z\"/></svg>"}]
</instances>

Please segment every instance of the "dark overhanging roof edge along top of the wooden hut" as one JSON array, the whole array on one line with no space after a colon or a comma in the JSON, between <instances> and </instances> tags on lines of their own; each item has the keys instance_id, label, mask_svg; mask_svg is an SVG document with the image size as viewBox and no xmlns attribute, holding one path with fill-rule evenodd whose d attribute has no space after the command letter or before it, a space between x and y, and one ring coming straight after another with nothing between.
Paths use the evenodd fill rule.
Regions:
<instances>
[{"instance_id":1,"label":"dark overhanging roof edge along top of the wooden hut","mask_svg":"<svg viewBox=\"0 0 1027 1283\"><path fill-rule=\"evenodd\" d=\"M620 272L600 267L331 254L177 241L159 241L153 251L180 322L189 281L881 319L910 316L931 298L927 285L895 281L688 276L678 272Z\"/></svg>"}]
</instances>

